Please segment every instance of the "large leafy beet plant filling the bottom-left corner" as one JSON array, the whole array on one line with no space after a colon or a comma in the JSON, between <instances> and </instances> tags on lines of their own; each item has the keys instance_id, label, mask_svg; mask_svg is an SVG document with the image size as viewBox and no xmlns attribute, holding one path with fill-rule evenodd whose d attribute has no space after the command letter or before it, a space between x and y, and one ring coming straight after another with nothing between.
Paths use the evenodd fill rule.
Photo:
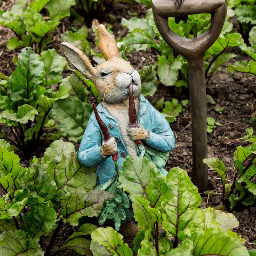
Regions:
<instances>
[{"instance_id":1,"label":"large leafy beet plant filling the bottom-left corner","mask_svg":"<svg viewBox=\"0 0 256 256\"><path fill-rule=\"evenodd\" d=\"M41 161L34 157L25 168L10 144L1 139L0 161L0 187L5 191L0 198L0 255L49 256L64 249L91 255L85 236L96 229L92 224L80 226L51 253L63 222L76 226L83 216L98 217L103 203L113 197L94 190L95 170L80 164L74 145L57 140ZM46 237L49 244L43 247Z\"/></svg>"}]
</instances>

